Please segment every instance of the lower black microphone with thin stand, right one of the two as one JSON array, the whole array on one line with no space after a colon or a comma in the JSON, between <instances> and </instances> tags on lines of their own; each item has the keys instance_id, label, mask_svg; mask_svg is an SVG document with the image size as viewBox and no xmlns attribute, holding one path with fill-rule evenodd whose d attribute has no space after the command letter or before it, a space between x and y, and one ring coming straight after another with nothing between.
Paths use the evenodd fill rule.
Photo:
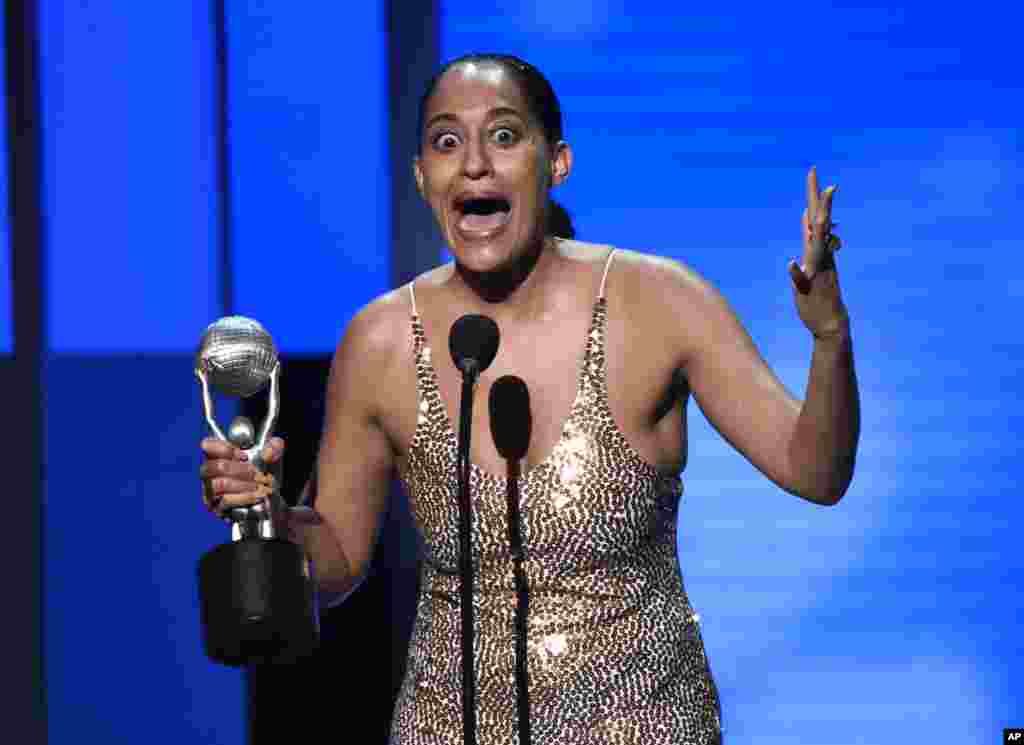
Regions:
<instances>
[{"instance_id":1,"label":"lower black microphone with thin stand, right one of the two","mask_svg":"<svg viewBox=\"0 0 1024 745\"><path fill-rule=\"evenodd\" d=\"M515 688L519 720L519 745L530 745L529 670L526 665L526 623L529 615L529 593L522 563L525 554L519 525L519 462L529 448L532 418L529 413L529 391L521 378L504 376L490 387L490 436L495 447L508 464L507 499L509 545L512 549L515 578Z\"/></svg>"}]
</instances>

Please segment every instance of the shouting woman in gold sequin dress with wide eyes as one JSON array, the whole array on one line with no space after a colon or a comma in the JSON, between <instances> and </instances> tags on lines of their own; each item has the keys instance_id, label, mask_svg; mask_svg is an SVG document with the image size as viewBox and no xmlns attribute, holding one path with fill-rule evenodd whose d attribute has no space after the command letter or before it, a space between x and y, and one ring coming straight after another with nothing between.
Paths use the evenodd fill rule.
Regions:
<instances>
[{"instance_id":1,"label":"shouting woman in gold sequin dress with wide eyes","mask_svg":"<svg viewBox=\"0 0 1024 745\"><path fill-rule=\"evenodd\" d=\"M444 347L457 318L488 315L502 342L478 395L516 375L532 410L520 480L532 742L719 742L718 694L676 558L684 408L692 393L781 488L819 505L841 498L853 474L858 400L831 254L834 189L819 194L811 171L803 263L790 266L814 337L801 402L692 270L549 233L557 214L549 191L568 178L572 150L536 69L499 55L451 62L424 96L420 133L416 182L455 262L352 320L332 365L316 512L295 513L289 534L313 559L323 591L351 591L367 573L397 469L426 556L392 740L460 742L452 423L461 377ZM471 453L481 744L516 740L516 596L497 476L504 464L479 435L488 415L474 407ZM264 480L237 450L214 440L203 449L211 510L265 496ZM275 439L266 454L276 461L283 451Z\"/></svg>"}]
</instances>

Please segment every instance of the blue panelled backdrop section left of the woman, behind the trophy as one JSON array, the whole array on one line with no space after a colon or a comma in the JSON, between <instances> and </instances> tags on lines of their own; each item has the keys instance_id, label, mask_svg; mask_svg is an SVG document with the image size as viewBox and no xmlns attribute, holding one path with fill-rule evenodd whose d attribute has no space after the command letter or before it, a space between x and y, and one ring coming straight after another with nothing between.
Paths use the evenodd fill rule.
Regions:
<instances>
[{"instance_id":1,"label":"blue panelled backdrop section left of the woman, behind the trophy","mask_svg":"<svg viewBox=\"0 0 1024 745\"><path fill-rule=\"evenodd\" d=\"M40 11L49 741L243 743L243 673L200 642L196 563L229 532L200 501L193 354L226 297L326 354L386 289L381 8L227 3L229 209L215 3Z\"/></svg>"}]
</instances>

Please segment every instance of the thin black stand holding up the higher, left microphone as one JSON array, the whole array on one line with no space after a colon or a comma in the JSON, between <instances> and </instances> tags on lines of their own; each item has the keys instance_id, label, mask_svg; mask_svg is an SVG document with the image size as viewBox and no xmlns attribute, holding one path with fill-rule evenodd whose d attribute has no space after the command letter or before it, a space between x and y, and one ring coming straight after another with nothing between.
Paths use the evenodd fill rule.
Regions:
<instances>
[{"instance_id":1,"label":"thin black stand holding up the higher, left microphone","mask_svg":"<svg viewBox=\"0 0 1024 745\"><path fill-rule=\"evenodd\" d=\"M462 611L462 722L464 745L476 743L476 680L473 676L473 559L470 539L471 508L469 499L470 434L473 425L473 385L479 374L477 361L469 358L462 367L462 400L459 404L459 564L462 574L460 605Z\"/></svg>"}]
</instances>

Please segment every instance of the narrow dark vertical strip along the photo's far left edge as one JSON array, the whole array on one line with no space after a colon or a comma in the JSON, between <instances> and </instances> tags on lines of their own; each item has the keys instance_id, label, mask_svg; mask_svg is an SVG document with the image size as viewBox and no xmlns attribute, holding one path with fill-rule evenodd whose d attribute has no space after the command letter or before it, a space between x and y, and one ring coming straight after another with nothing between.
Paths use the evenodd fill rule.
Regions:
<instances>
[{"instance_id":1,"label":"narrow dark vertical strip along the photo's far left edge","mask_svg":"<svg viewBox=\"0 0 1024 745\"><path fill-rule=\"evenodd\" d=\"M41 567L45 292L36 3L7 0L4 15L7 204L17 281L12 293L14 359L0 365L0 390L8 417L0 431L3 450L10 455L5 467L4 519L11 528L0 540L0 566L8 569L4 596L11 601L0 615L0 637L6 641L0 690L4 692L5 731L17 733L20 742L42 743L47 736Z\"/></svg>"}]
</instances>

